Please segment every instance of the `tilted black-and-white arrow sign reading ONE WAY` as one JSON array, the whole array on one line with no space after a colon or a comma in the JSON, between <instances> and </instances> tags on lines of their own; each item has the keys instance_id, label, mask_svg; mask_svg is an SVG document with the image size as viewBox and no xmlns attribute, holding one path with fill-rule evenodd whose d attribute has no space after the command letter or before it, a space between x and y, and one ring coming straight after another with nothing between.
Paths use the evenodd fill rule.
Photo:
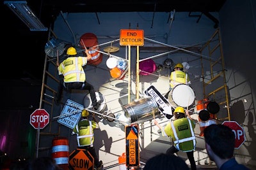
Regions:
<instances>
[{"instance_id":1,"label":"tilted black-and-white arrow sign reading ONE WAY","mask_svg":"<svg viewBox=\"0 0 256 170\"><path fill-rule=\"evenodd\" d=\"M152 97L156 101L159 111L161 111L161 113L163 113L166 118L170 119L173 117L172 104L170 104L168 100L153 85L145 90L145 94Z\"/></svg>"}]
</instances>

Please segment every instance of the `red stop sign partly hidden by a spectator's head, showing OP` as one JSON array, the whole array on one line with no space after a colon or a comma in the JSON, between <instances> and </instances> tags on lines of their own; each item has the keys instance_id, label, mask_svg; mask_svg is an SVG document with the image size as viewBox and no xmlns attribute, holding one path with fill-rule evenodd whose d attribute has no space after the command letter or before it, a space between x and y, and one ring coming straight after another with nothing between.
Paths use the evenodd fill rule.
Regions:
<instances>
[{"instance_id":1,"label":"red stop sign partly hidden by a spectator's head, showing OP","mask_svg":"<svg viewBox=\"0 0 256 170\"><path fill-rule=\"evenodd\" d=\"M243 143L245 141L243 127L241 127L241 125L237 124L236 121L224 121L222 124L227 125L234 132L235 138L236 138L235 148L239 148L241 145L243 145Z\"/></svg>"}]
</instances>

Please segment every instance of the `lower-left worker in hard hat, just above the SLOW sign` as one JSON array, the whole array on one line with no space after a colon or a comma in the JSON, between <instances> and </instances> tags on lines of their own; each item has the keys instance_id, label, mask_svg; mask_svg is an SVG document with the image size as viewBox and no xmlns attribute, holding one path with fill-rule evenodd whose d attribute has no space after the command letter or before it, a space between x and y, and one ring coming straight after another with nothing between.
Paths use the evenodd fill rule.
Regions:
<instances>
[{"instance_id":1,"label":"lower-left worker in hard hat, just above the SLOW sign","mask_svg":"<svg viewBox=\"0 0 256 170\"><path fill-rule=\"evenodd\" d=\"M95 167L99 170L102 167L102 160L99 161L93 146L94 129L99 129L99 124L96 122L94 117L93 120L88 120L89 115L89 111L82 111L83 119L76 124L72 134L77 134L77 148L88 150L94 158Z\"/></svg>"}]
</instances>

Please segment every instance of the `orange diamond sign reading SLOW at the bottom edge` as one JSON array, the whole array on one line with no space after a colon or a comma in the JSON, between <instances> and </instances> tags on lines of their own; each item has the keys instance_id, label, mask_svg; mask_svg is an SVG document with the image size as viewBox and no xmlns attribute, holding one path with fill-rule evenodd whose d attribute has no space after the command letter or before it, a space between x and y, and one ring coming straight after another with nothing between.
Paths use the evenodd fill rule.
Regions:
<instances>
[{"instance_id":1,"label":"orange diamond sign reading SLOW at the bottom edge","mask_svg":"<svg viewBox=\"0 0 256 170\"><path fill-rule=\"evenodd\" d=\"M72 170L93 170L94 159L87 150L77 149L69 155L69 166Z\"/></svg>"}]
</instances>

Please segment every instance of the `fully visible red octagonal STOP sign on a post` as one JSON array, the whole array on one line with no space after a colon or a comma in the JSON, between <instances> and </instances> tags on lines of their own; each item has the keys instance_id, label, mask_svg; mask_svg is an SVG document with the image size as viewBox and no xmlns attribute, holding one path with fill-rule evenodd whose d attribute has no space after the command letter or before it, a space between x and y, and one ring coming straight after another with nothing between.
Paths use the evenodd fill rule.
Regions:
<instances>
[{"instance_id":1,"label":"fully visible red octagonal STOP sign on a post","mask_svg":"<svg viewBox=\"0 0 256 170\"><path fill-rule=\"evenodd\" d=\"M30 124L35 129L43 129L49 124L49 113L44 109L37 109L30 115Z\"/></svg>"}]
</instances>

